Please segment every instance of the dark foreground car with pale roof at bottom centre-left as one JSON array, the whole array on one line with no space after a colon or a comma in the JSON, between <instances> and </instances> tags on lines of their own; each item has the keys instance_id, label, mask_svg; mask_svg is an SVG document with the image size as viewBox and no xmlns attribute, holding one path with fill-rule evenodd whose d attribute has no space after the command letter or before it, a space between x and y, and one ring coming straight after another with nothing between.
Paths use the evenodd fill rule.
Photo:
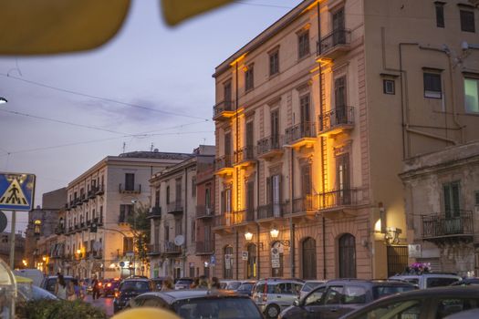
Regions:
<instances>
[{"instance_id":1,"label":"dark foreground car with pale roof at bottom centre-left","mask_svg":"<svg viewBox=\"0 0 479 319\"><path fill-rule=\"evenodd\" d=\"M183 319L262 319L263 315L247 296L223 290L176 290L143 293L132 299L130 307L161 307Z\"/></svg>"}]
</instances>

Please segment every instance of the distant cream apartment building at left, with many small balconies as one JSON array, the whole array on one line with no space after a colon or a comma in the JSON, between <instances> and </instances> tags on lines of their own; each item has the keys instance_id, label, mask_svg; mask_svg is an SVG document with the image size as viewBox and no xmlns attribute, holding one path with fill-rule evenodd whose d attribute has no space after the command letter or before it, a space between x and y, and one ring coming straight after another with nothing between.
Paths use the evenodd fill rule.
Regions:
<instances>
[{"instance_id":1,"label":"distant cream apartment building at left, with many small balconies","mask_svg":"<svg viewBox=\"0 0 479 319\"><path fill-rule=\"evenodd\" d=\"M148 265L135 259L129 218L150 205L151 176L189 157L157 149L108 156L68 183L58 232L65 235L64 273L101 278L149 273Z\"/></svg>"}]
</instances>

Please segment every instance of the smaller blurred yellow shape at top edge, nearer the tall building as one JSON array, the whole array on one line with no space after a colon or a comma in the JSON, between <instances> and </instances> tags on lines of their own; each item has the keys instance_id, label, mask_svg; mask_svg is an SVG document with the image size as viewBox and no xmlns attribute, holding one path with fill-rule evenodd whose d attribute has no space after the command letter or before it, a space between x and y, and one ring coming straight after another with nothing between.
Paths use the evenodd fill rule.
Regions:
<instances>
[{"instance_id":1,"label":"smaller blurred yellow shape at top edge, nearer the tall building","mask_svg":"<svg viewBox=\"0 0 479 319\"><path fill-rule=\"evenodd\" d=\"M174 26L186 18L230 2L233 0L162 0L161 6L166 23Z\"/></svg>"}]
</instances>

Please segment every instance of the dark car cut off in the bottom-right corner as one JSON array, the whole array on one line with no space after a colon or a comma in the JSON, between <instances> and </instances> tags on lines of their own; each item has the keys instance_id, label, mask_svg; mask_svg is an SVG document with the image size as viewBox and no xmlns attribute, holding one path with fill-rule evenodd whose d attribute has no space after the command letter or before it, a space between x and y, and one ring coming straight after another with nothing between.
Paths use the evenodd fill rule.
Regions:
<instances>
[{"instance_id":1,"label":"dark car cut off in the bottom-right corner","mask_svg":"<svg viewBox=\"0 0 479 319\"><path fill-rule=\"evenodd\" d=\"M478 286L439 287L392 295L346 314L341 319L463 318L465 315L460 315L461 312L474 308L479 308Z\"/></svg>"}]
</instances>

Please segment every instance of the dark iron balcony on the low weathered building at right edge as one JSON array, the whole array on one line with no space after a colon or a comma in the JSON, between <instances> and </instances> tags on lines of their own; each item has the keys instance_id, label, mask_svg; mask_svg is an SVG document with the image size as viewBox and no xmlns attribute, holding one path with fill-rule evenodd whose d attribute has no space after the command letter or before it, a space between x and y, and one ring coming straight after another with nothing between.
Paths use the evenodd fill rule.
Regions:
<instances>
[{"instance_id":1,"label":"dark iron balcony on the low weathered building at right edge","mask_svg":"<svg viewBox=\"0 0 479 319\"><path fill-rule=\"evenodd\" d=\"M422 240L436 243L473 242L473 212L454 212L447 216L445 213L422 215Z\"/></svg>"}]
</instances>

